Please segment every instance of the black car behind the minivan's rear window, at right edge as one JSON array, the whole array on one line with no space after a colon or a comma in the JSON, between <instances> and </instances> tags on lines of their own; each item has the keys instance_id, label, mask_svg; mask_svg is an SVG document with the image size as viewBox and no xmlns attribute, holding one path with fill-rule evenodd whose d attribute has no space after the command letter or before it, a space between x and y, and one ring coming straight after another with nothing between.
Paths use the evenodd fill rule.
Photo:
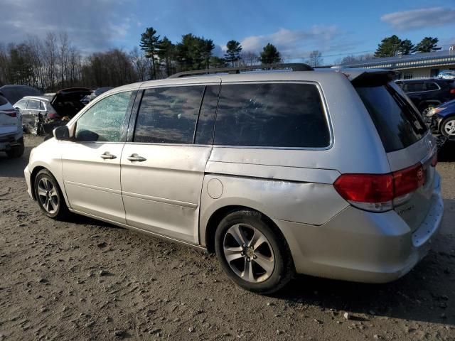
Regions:
<instances>
[{"instance_id":1,"label":"black car behind the minivan's rear window, at right edge","mask_svg":"<svg viewBox=\"0 0 455 341\"><path fill-rule=\"evenodd\" d=\"M454 80L425 78L422 80L397 80L396 82L424 116L434 107L455 99Z\"/></svg>"}]
</instances>

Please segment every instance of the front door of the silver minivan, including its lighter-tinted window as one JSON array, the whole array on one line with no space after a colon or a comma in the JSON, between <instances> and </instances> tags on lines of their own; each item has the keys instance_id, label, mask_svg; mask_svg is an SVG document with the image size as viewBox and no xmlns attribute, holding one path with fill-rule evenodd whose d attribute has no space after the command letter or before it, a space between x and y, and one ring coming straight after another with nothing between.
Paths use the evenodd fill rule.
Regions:
<instances>
[{"instance_id":1,"label":"front door of the silver minivan, including its lighter-tinted window","mask_svg":"<svg viewBox=\"0 0 455 341\"><path fill-rule=\"evenodd\" d=\"M63 144L63 180L73 210L126 223L120 160L135 92L120 92L92 105Z\"/></svg>"}]
</instances>

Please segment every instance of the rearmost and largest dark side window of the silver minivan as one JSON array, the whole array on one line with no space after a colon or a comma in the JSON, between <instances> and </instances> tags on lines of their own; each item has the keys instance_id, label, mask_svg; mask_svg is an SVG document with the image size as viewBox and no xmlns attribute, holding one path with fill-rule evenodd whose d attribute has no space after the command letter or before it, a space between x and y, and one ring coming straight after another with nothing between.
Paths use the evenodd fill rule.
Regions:
<instances>
[{"instance_id":1,"label":"rearmost and largest dark side window of the silver minivan","mask_svg":"<svg viewBox=\"0 0 455 341\"><path fill-rule=\"evenodd\" d=\"M323 148L330 144L316 85L222 85L216 145Z\"/></svg>"}]
</instances>

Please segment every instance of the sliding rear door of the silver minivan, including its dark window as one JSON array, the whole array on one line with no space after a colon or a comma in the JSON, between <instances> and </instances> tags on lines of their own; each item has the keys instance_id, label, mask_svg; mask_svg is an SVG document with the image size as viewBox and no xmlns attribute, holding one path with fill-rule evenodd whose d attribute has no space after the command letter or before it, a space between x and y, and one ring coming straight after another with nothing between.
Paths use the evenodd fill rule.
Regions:
<instances>
[{"instance_id":1,"label":"sliding rear door of the silver minivan, including its dark window","mask_svg":"<svg viewBox=\"0 0 455 341\"><path fill-rule=\"evenodd\" d=\"M121 163L123 202L132 227L198 243L200 191L219 86L144 90Z\"/></svg>"}]
</instances>

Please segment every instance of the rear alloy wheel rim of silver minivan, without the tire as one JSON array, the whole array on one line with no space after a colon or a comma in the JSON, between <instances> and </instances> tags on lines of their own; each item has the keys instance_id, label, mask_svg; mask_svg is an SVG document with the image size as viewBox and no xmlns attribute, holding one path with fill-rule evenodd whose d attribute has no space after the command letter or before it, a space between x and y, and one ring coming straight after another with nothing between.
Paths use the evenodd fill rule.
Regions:
<instances>
[{"instance_id":1,"label":"rear alloy wheel rim of silver minivan, without the tire","mask_svg":"<svg viewBox=\"0 0 455 341\"><path fill-rule=\"evenodd\" d=\"M230 269L245 281L259 283L274 271L272 245L259 229L249 224L235 224L223 240L223 252Z\"/></svg>"}]
</instances>

